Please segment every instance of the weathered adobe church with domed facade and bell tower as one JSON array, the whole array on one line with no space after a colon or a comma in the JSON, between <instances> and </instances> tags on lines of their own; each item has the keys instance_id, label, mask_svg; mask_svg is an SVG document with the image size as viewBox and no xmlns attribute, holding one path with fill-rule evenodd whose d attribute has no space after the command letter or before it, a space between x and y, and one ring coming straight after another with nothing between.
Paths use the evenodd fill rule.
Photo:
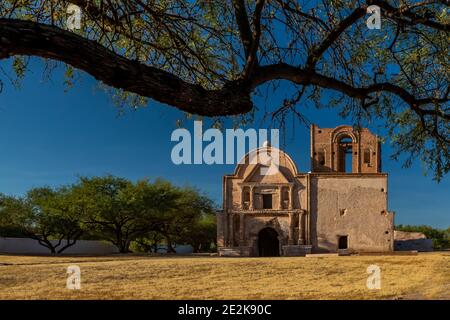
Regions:
<instances>
[{"instance_id":1,"label":"weathered adobe church with domed facade and bell tower","mask_svg":"<svg viewBox=\"0 0 450 320\"><path fill-rule=\"evenodd\" d=\"M278 166L267 157L255 158L264 152L278 152ZM381 172L379 139L368 129L313 125L308 173L299 172L288 154L265 144L223 177L219 254L393 251L387 178Z\"/></svg>"}]
</instances>

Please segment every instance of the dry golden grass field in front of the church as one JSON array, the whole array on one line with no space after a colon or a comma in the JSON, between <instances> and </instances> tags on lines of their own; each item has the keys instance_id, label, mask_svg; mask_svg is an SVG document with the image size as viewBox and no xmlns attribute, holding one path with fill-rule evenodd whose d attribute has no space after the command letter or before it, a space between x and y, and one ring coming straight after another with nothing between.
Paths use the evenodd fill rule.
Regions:
<instances>
[{"instance_id":1,"label":"dry golden grass field in front of the church","mask_svg":"<svg viewBox=\"0 0 450 320\"><path fill-rule=\"evenodd\" d=\"M66 289L67 267L81 289ZM368 290L366 269L381 268ZM0 255L0 299L450 299L450 252L295 258Z\"/></svg>"}]
</instances>

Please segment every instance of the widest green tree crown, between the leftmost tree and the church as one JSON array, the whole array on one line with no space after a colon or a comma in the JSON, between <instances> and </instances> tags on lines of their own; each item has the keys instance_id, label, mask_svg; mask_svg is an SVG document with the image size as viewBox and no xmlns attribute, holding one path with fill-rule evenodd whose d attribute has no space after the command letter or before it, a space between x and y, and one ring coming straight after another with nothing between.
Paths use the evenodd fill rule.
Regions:
<instances>
[{"instance_id":1,"label":"widest green tree crown, between the leftmost tree and the church","mask_svg":"<svg viewBox=\"0 0 450 320\"><path fill-rule=\"evenodd\" d=\"M211 201L197 190L160 179L133 183L114 176L81 178L73 192L85 228L123 253L136 239L155 232L175 237L197 217L212 212Z\"/></svg>"}]
</instances>

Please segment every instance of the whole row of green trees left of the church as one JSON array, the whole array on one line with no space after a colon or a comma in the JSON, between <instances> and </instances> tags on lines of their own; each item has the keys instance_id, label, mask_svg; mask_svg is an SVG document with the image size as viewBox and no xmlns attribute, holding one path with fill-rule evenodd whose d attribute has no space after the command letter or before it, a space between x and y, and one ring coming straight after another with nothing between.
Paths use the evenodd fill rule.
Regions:
<instances>
[{"instance_id":1,"label":"whole row of green trees left of the church","mask_svg":"<svg viewBox=\"0 0 450 320\"><path fill-rule=\"evenodd\" d=\"M208 250L216 241L214 204L192 187L168 181L131 182L111 175L81 177L59 188L31 189L23 197L0 194L0 236L25 236L62 253L82 236L107 240L121 253L157 252L165 243Z\"/></svg>"}]
</instances>

